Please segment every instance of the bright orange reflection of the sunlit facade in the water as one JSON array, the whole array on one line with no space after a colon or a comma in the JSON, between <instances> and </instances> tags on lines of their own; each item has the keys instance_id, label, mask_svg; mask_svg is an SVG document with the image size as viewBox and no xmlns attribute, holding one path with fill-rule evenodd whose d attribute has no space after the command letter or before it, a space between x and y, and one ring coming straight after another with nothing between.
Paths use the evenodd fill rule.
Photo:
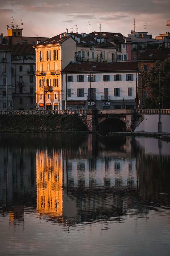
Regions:
<instances>
[{"instance_id":1,"label":"bright orange reflection of the sunlit facade in the water","mask_svg":"<svg viewBox=\"0 0 170 256\"><path fill-rule=\"evenodd\" d=\"M51 217L62 217L62 158L61 152L37 150L37 211Z\"/></svg>"}]
</instances>

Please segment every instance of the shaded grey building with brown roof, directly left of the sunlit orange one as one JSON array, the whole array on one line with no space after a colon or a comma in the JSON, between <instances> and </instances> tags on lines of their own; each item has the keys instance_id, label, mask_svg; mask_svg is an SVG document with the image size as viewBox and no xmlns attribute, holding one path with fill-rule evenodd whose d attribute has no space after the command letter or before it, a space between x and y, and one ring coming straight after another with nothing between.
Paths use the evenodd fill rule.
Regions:
<instances>
[{"instance_id":1,"label":"shaded grey building with brown roof, directly left of the sunlit orange one","mask_svg":"<svg viewBox=\"0 0 170 256\"><path fill-rule=\"evenodd\" d=\"M13 110L35 110L35 50L32 45L8 47L13 50Z\"/></svg>"}]
</instances>

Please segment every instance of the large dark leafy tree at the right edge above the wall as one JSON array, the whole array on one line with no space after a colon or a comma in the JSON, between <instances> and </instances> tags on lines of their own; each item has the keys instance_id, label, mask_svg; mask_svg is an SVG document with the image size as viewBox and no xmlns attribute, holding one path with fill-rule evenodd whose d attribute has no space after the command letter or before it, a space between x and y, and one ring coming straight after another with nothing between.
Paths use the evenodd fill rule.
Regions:
<instances>
[{"instance_id":1,"label":"large dark leafy tree at the right edge above the wall","mask_svg":"<svg viewBox=\"0 0 170 256\"><path fill-rule=\"evenodd\" d=\"M147 98L143 100L145 108L159 109L160 85L160 108L170 109L170 58L156 61L143 75L142 83L147 92Z\"/></svg>"}]
</instances>

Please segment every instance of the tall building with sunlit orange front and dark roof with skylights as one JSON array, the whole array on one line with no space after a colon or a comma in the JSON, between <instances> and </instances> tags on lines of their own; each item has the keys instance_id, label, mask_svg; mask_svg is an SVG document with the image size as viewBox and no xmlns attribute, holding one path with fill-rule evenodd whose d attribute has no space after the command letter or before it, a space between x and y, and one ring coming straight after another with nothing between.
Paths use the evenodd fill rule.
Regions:
<instances>
[{"instance_id":1,"label":"tall building with sunlit orange front and dark roof with skylights","mask_svg":"<svg viewBox=\"0 0 170 256\"><path fill-rule=\"evenodd\" d=\"M61 110L61 70L69 63L115 62L117 46L95 35L63 33L41 42L36 53L36 109Z\"/></svg>"}]
</instances>

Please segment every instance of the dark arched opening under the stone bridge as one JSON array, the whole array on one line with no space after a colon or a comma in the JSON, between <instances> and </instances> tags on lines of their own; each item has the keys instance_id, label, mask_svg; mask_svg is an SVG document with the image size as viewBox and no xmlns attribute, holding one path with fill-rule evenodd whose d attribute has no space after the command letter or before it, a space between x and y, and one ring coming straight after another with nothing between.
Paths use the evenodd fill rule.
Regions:
<instances>
[{"instance_id":1,"label":"dark arched opening under the stone bridge","mask_svg":"<svg viewBox=\"0 0 170 256\"><path fill-rule=\"evenodd\" d=\"M117 117L109 117L104 119L97 126L97 131L109 132L109 131L126 131L126 123Z\"/></svg>"}]
</instances>

